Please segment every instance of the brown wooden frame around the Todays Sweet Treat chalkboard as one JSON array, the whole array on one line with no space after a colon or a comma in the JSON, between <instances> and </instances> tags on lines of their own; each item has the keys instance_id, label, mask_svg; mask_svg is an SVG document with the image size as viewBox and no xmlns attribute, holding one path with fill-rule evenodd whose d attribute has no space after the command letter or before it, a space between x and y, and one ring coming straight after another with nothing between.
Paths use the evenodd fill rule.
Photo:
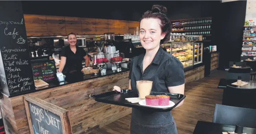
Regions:
<instances>
[{"instance_id":1,"label":"brown wooden frame around the Todays Sweet Treat chalkboard","mask_svg":"<svg viewBox=\"0 0 256 134\"><path fill-rule=\"evenodd\" d=\"M30 134L33 134L34 132L33 132L32 122L31 122L31 118L30 118L28 101L43 108L43 109L51 111L54 114L59 115L60 119L61 119L63 134L72 134L71 122L70 122L68 110L58 107L56 105L53 105L52 103L49 103L49 102L39 99L37 97L30 96L30 95L24 95L23 101L24 101L25 111L26 111L27 119L28 119L28 123L29 123Z\"/></svg>"}]
</instances>

